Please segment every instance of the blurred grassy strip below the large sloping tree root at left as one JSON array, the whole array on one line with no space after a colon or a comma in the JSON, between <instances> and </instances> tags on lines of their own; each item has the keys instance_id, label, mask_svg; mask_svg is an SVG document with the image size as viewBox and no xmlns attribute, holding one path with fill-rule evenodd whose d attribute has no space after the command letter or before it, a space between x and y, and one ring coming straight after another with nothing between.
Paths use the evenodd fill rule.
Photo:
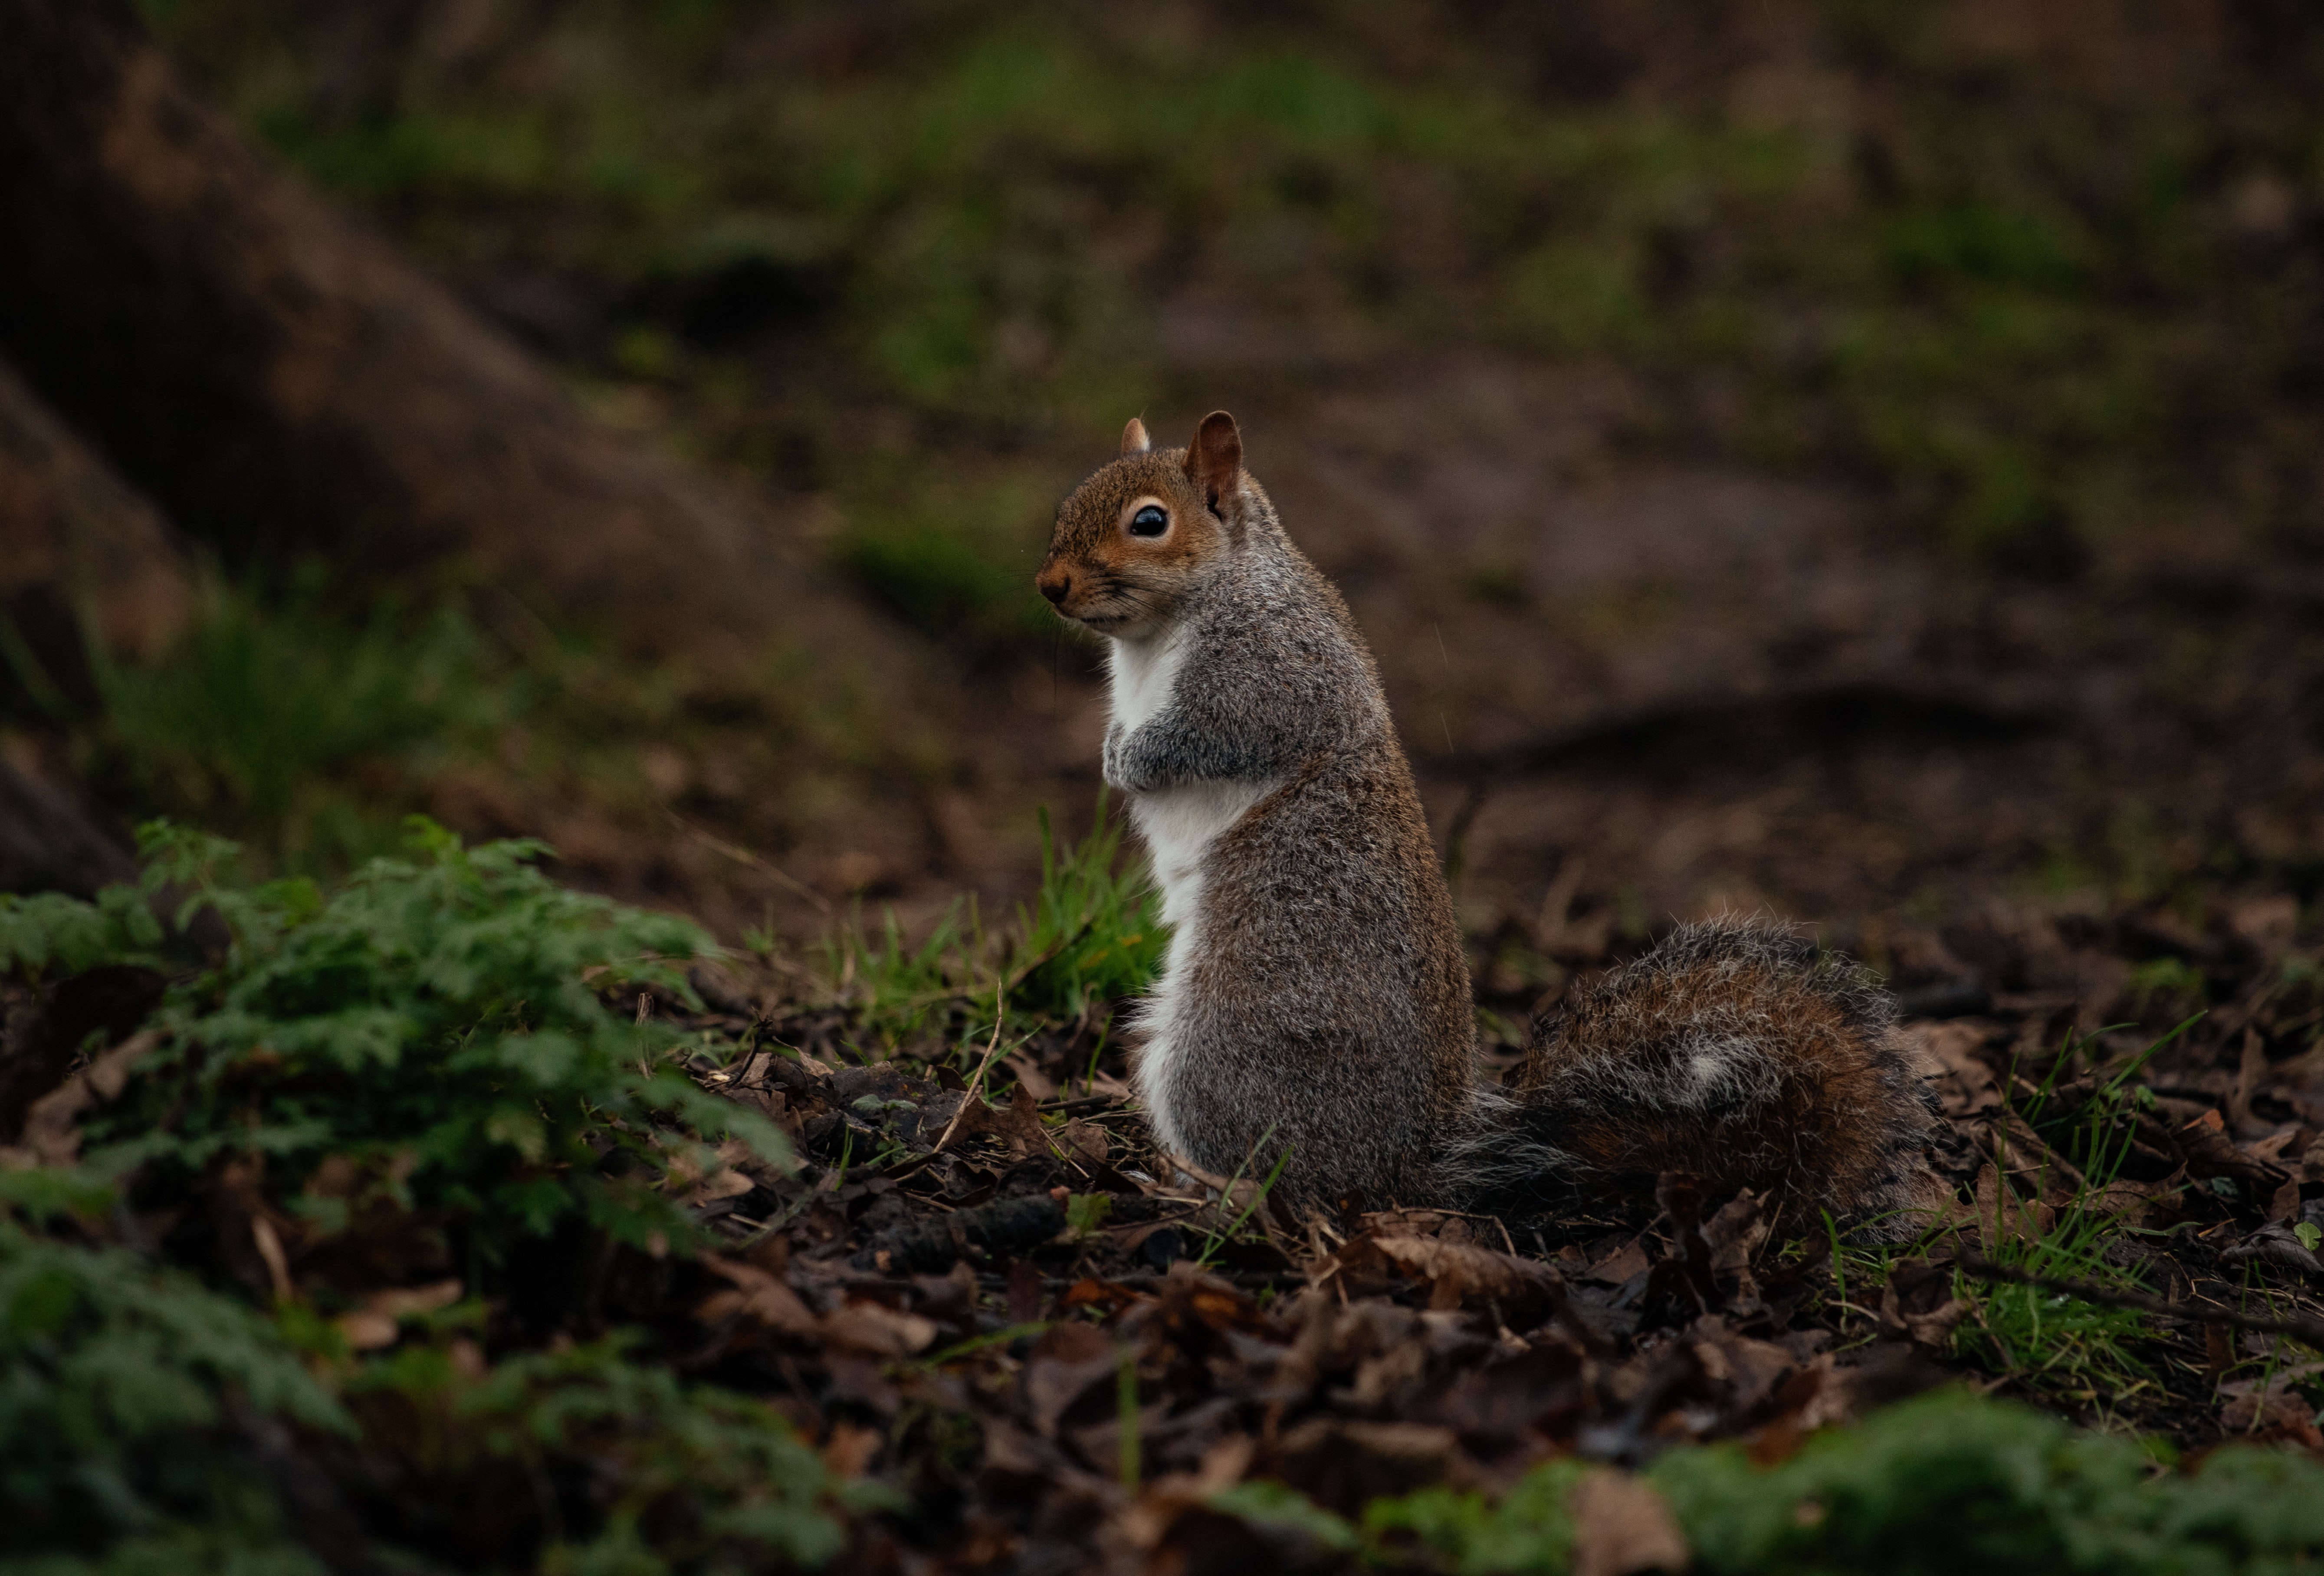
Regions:
<instances>
[{"instance_id":1,"label":"blurred grassy strip below the large sloping tree root at left","mask_svg":"<svg viewBox=\"0 0 2324 1576\"><path fill-rule=\"evenodd\" d=\"M5 646L0 621L0 662L28 660ZM925 739L869 716L860 674L779 639L751 662L641 662L321 572L288 590L214 581L165 651L88 658L91 704L28 686L40 700L0 730L60 732L100 802L211 828L270 874L344 876L430 814L479 834L607 832L576 841L618 881L630 853L672 839L669 811L781 846L867 779L930 767Z\"/></svg>"}]
</instances>

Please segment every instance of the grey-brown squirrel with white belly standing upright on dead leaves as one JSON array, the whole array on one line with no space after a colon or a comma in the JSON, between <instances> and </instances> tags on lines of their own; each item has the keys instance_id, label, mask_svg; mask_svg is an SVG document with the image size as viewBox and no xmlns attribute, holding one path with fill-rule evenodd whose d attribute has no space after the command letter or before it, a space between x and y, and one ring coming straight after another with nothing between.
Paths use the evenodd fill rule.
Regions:
<instances>
[{"instance_id":1,"label":"grey-brown squirrel with white belly standing upright on dead leaves","mask_svg":"<svg viewBox=\"0 0 2324 1576\"><path fill-rule=\"evenodd\" d=\"M1034 586L1106 637L1104 779L1171 939L1132 1079L1155 1139L1290 1209L1557 1206L1690 1172L1787 1220L1934 1206L1936 1102L1875 979L1769 920L1680 925L1480 1079L1459 920L1348 604L1227 411L1141 421ZM1892 1234L1892 1225L1887 1232ZM1908 1234L1910 1227L1906 1227Z\"/></svg>"}]
</instances>

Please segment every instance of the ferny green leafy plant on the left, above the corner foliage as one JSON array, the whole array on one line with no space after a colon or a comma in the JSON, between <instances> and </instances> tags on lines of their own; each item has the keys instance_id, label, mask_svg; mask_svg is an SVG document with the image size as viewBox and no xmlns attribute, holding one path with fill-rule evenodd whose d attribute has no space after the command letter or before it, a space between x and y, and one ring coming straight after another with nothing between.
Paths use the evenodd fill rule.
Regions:
<instances>
[{"instance_id":1,"label":"ferny green leafy plant on the left, above the corner foliage","mask_svg":"<svg viewBox=\"0 0 2324 1576\"><path fill-rule=\"evenodd\" d=\"M372 860L330 897L228 883L232 844L209 837L156 828L146 853L149 886L195 888L188 914L211 909L232 946L156 1011L165 1044L88 1127L98 1174L188 1190L258 1160L323 1237L388 1202L453 1223L493 1265L565 1223L683 1241L658 1183L688 1130L788 1158L772 1125L667 1065L674 1030L623 1011L639 990L693 1002L681 965L709 937L555 886L541 844L462 848L418 823L416 858ZM342 1185L300 1192L325 1158Z\"/></svg>"}]
</instances>

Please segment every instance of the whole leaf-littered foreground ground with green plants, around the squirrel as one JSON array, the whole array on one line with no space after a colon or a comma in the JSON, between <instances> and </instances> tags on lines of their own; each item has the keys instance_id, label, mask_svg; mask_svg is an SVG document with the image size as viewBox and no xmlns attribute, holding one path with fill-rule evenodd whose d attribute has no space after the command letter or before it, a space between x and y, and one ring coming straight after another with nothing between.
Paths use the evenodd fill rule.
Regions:
<instances>
[{"instance_id":1,"label":"whole leaf-littered foreground ground with green plants, around the squirrel","mask_svg":"<svg viewBox=\"0 0 2324 1576\"><path fill-rule=\"evenodd\" d=\"M2282 1478L2324 1450L2324 962L2287 900L2029 920L1906 983L1952 1199L1873 1244L1685 1174L1294 1216L1160 1153L1120 1025L1160 932L1109 837L1013 927L818 965L437 830L335 893L170 848L232 937L202 969L137 895L0 904L0 1455L53 1478L42 1548L1757 1574L2324 1539ZM2040 953L2129 979L2126 1018L2082 1032ZM1485 990L1490 1065L1529 1004Z\"/></svg>"}]
</instances>

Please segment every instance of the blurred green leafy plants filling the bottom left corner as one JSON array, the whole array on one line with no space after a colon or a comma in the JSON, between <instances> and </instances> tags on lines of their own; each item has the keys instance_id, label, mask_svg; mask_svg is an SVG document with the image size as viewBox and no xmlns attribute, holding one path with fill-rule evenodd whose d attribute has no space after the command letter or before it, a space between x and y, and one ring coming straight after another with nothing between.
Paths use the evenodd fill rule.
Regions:
<instances>
[{"instance_id":1,"label":"blurred green leafy plants filling the bottom left corner","mask_svg":"<svg viewBox=\"0 0 2324 1576\"><path fill-rule=\"evenodd\" d=\"M483 1371L442 1341L302 1360L284 1327L191 1276L0 1220L0 1571L318 1574L267 1471L316 1439L404 1455L446 1513L488 1506L479 1536L504 1539L507 1504L516 1520L530 1506L541 1571L811 1569L839 1553L832 1506L892 1506L839 1483L765 1404L630 1362L618 1339ZM551 1481L590 1483L579 1525L541 1499Z\"/></svg>"}]
</instances>

